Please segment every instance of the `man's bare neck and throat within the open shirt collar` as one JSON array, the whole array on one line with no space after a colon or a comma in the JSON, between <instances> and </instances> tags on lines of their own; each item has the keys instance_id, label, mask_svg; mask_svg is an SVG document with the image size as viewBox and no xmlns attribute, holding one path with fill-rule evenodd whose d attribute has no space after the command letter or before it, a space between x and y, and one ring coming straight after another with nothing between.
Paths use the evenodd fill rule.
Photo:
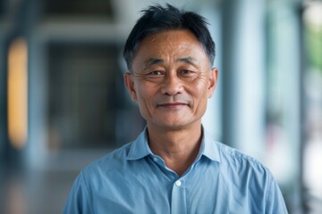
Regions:
<instances>
[{"instance_id":1,"label":"man's bare neck and throat within the open shirt collar","mask_svg":"<svg viewBox=\"0 0 322 214\"><path fill-rule=\"evenodd\" d=\"M160 156L166 167L178 176L196 160L201 144L201 125L192 128L165 130L148 126L148 144L151 151Z\"/></svg>"}]
</instances>

